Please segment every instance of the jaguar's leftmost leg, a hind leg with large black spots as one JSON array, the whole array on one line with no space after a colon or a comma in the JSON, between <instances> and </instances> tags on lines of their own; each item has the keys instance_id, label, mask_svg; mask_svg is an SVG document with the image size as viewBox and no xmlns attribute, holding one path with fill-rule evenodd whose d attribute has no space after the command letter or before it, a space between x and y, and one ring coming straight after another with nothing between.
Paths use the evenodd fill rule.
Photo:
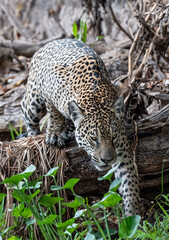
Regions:
<instances>
[{"instance_id":1,"label":"jaguar's leftmost leg, a hind leg with large black spots","mask_svg":"<svg viewBox=\"0 0 169 240\"><path fill-rule=\"evenodd\" d=\"M39 121L46 114L46 106L40 97L32 99L30 94L25 94L21 109L26 124L28 136L35 136L40 133Z\"/></svg>"}]
</instances>

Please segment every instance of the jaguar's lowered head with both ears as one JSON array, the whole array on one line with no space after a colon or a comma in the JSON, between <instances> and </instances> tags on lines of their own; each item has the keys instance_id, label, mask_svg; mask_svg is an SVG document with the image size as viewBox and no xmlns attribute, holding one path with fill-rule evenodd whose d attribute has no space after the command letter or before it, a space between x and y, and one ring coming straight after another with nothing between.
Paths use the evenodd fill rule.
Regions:
<instances>
[{"instance_id":1,"label":"jaguar's lowered head with both ears","mask_svg":"<svg viewBox=\"0 0 169 240\"><path fill-rule=\"evenodd\" d=\"M112 108L112 115L109 113L103 117L102 114L100 117L99 113L95 112L85 114L74 101L69 103L76 141L79 147L91 156L93 165L99 171L111 168L117 159L115 145L118 140L118 128L113 118L121 118L122 106L123 101L119 98Z\"/></svg>"}]
</instances>

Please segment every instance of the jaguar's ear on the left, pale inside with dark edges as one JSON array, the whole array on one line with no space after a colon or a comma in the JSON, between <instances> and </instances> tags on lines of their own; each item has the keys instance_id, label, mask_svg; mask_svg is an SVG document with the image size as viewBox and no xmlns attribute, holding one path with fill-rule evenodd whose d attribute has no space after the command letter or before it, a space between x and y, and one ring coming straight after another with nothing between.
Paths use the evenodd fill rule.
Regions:
<instances>
[{"instance_id":1,"label":"jaguar's ear on the left, pale inside with dark edges","mask_svg":"<svg viewBox=\"0 0 169 240\"><path fill-rule=\"evenodd\" d=\"M83 120L84 114L78 107L75 101L68 103L70 118L72 119L75 127Z\"/></svg>"}]
</instances>

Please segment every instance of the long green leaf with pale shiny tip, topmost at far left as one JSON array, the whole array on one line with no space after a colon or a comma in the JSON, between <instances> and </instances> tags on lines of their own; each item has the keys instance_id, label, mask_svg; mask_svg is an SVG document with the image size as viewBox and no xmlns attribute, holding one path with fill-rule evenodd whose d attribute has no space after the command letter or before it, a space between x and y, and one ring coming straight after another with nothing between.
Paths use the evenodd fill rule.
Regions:
<instances>
[{"instance_id":1,"label":"long green leaf with pale shiny tip, topmost at far left","mask_svg":"<svg viewBox=\"0 0 169 240\"><path fill-rule=\"evenodd\" d=\"M35 169L36 167L31 164L29 167L26 168L24 172L6 178L2 183L12 183L18 186L19 182L24 178L28 179L30 175L32 175L32 173L35 171Z\"/></svg>"}]
</instances>

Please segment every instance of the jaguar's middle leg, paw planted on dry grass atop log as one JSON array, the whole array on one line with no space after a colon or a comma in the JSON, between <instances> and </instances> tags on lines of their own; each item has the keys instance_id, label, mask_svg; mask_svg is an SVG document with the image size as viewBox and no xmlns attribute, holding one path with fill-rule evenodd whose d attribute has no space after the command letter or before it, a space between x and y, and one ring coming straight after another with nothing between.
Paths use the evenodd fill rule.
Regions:
<instances>
[{"instance_id":1,"label":"jaguar's middle leg, paw planted on dry grass atop log","mask_svg":"<svg viewBox=\"0 0 169 240\"><path fill-rule=\"evenodd\" d=\"M49 113L46 143L57 145L59 148L62 148L65 146L65 141L68 139L65 117L52 103L46 103L46 108Z\"/></svg>"}]
</instances>

